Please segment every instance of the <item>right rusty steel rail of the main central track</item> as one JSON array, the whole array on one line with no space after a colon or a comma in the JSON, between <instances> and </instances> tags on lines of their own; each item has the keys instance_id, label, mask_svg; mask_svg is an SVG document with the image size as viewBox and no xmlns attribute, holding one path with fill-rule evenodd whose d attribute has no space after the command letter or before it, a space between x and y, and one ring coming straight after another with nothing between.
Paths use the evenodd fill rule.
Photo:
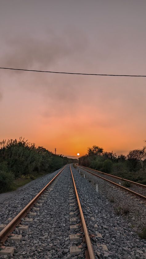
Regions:
<instances>
[{"instance_id":1,"label":"right rusty steel rail of the main central track","mask_svg":"<svg viewBox=\"0 0 146 259\"><path fill-rule=\"evenodd\" d=\"M70 169L71 169L71 165L70 165ZM82 220L84 234L85 234L85 238L86 238L88 253L89 253L89 256L90 256L89 258L95 259L93 247L92 247L91 240L90 240L90 237L89 237L89 233L88 233L86 221L85 221L85 218L84 218L84 215L83 215L82 207L81 207L81 204L80 204L80 201L79 201L79 195L78 195L77 188L76 188L76 185L75 185L75 180L74 180L74 177L73 177L72 170L71 170L71 176L72 176L72 181L73 181L74 188L75 188L76 198L77 198L77 201L78 201L79 212L80 212L80 215L81 215L81 220Z\"/></svg>"}]
</instances>

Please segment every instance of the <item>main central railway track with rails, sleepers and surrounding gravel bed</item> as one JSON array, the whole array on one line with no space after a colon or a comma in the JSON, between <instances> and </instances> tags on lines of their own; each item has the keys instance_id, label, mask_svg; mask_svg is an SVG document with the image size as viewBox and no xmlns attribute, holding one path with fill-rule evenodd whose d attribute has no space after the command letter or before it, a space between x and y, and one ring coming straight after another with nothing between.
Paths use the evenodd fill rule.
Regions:
<instances>
[{"instance_id":1,"label":"main central railway track with rails, sleepers and surrounding gravel bed","mask_svg":"<svg viewBox=\"0 0 146 259\"><path fill-rule=\"evenodd\" d=\"M119 225L119 217L108 211L105 199L73 166L67 165L53 175L32 201L4 225L0 258L7 254L15 259L121 259L128 258L131 252L131 258L144 259L138 236L124 223ZM135 257L136 249L140 256Z\"/></svg>"}]
</instances>

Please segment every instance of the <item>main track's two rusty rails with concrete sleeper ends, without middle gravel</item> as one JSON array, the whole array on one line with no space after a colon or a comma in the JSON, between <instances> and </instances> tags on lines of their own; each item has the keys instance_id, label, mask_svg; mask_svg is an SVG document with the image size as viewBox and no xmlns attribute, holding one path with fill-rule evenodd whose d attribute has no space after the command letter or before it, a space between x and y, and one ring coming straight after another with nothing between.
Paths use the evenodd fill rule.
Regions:
<instances>
[{"instance_id":1,"label":"main track's two rusty rails with concrete sleeper ends, without middle gravel","mask_svg":"<svg viewBox=\"0 0 146 259\"><path fill-rule=\"evenodd\" d=\"M6 241L12 241L12 243L19 243L21 242L22 235L17 234L17 232L28 231L28 223L33 224L33 218L37 217L37 213L40 213L40 209L42 209L42 203L47 200L52 188L55 188L55 181L58 180L59 177L62 177L62 174L66 166L63 167L56 174L55 177L22 209L14 219L10 221L7 225L0 225L2 229L0 232L0 255L7 255L10 256L14 253L14 247L12 246L5 246ZM84 253L84 258L86 259L95 259L95 255L93 252L91 239L88 233L87 225L85 222L85 218L83 215L83 210L80 204L78 191L75 185L74 176L71 170L70 165L70 188L69 188L69 199L70 199L70 241L79 241L83 239L83 242L79 246L71 246L70 247L70 254L75 255L78 253ZM78 205L78 206L77 206ZM30 211L31 210L31 211ZM77 218L79 217L80 223L76 224ZM26 217L27 216L27 217ZM23 219L23 221L22 221ZM26 222L26 225L25 225ZM81 233L76 233L79 231L81 227ZM77 229L77 230L76 230ZM17 231L16 231L17 230ZM75 233L74 233L75 231ZM14 233L12 233L14 232ZM86 247L86 249L85 249ZM49 258L49 257L48 257ZM55 257L56 258L56 257ZM58 258L58 257L57 257Z\"/></svg>"}]
</instances>

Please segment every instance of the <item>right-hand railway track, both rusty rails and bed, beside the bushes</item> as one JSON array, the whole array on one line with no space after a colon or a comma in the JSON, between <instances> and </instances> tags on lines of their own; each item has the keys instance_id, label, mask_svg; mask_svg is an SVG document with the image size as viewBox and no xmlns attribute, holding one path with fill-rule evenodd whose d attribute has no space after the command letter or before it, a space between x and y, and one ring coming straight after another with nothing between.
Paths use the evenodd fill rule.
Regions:
<instances>
[{"instance_id":1,"label":"right-hand railway track, both rusty rails and bed, beside the bushes","mask_svg":"<svg viewBox=\"0 0 146 259\"><path fill-rule=\"evenodd\" d=\"M142 185L140 183L136 183L127 179L123 179L121 177L117 177L111 174L107 174L107 173L103 173L100 171L97 171L95 169L91 169L85 166L80 166L78 164L76 164L76 166L80 169L85 170L88 173L91 173L92 175L99 177L100 179L103 179L107 182L109 182L112 185L115 185L116 187L119 187L120 189L129 192L130 194L134 195L135 197L138 197L144 201L146 201L146 185ZM94 173L93 173L94 171ZM104 175L101 176L101 175ZM114 178L115 181L112 181L112 179ZM126 188L122 185L122 182L128 182L131 185L131 188ZM136 185L136 186L135 186ZM134 186L134 187L133 187Z\"/></svg>"}]
</instances>

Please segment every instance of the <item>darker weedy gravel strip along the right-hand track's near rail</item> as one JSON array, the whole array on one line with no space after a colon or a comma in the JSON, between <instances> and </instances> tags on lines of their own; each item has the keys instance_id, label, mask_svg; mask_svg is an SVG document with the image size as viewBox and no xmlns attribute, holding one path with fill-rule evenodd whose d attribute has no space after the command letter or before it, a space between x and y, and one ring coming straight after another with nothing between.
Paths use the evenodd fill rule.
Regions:
<instances>
[{"instance_id":1,"label":"darker weedy gravel strip along the right-hand track's near rail","mask_svg":"<svg viewBox=\"0 0 146 259\"><path fill-rule=\"evenodd\" d=\"M105 199L107 198L107 202L111 201L111 206L117 213L122 213L122 210L125 209L123 217L128 221L128 225L131 226L135 232L142 232L146 225L146 203L143 200L117 188L83 169L79 168L78 170L80 170L82 175L85 174L86 179L91 182L94 189L95 184L98 184L99 193ZM128 213L126 214L127 210Z\"/></svg>"}]
</instances>

